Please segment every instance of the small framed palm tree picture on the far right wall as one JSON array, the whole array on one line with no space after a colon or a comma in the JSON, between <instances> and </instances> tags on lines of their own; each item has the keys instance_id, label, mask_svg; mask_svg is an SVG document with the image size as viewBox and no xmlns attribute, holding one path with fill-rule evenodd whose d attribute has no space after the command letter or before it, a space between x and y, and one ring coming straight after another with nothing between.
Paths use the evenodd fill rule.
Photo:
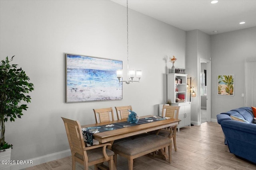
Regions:
<instances>
[{"instance_id":1,"label":"small framed palm tree picture on the far right wall","mask_svg":"<svg viewBox=\"0 0 256 170\"><path fill-rule=\"evenodd\" d=\"M218 75L218 95L234 96L234 75Z\"/></svg>"}]
</instances>

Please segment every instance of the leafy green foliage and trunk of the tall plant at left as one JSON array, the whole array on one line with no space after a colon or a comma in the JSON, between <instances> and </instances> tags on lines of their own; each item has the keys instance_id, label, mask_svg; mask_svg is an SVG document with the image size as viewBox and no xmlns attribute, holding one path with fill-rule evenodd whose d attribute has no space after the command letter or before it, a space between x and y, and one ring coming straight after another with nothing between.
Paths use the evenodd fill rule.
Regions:
<instances>
[{"instance_id":1,"label":"leafy green foliage and trunk of the tall plant at left","mask_svg":"<svg viewBox=\"0 0 256 170\"><path fill-rule=\"evenodd\" d=\"M4 123L21 118L22 111L28 108L26 103L31 100L26 94L34 90L34 84L29 82L24 70L17 68L18 64L10 64L13 58L6 57L0 63L0 154L12 148L4 139Z\"/></svg>"}]
</instances>

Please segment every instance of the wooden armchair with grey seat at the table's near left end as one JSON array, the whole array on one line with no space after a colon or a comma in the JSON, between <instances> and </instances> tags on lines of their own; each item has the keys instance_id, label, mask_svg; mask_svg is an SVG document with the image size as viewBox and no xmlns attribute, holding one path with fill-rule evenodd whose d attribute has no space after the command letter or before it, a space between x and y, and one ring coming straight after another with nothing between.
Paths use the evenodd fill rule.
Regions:
<instances>
[{"instance_id":1,"label":"wooden armchair with grey seat at the table's near left end","mask_svg":"<svg viewBox=\"0 0 256 170\"><path fill-rule=\"evenodd\" d=\"M86 147L79 121L64 117L62 119L72 155L72 170L76 169L76 162L84 165L85 170L89 170L88 166L92 165L94 165L94 170L98 170L97 164L105 161L108 161L109 169L114 170L114 152L106 149L108 145L111 145L110 143Z\"/></svg>"}]
</instances>

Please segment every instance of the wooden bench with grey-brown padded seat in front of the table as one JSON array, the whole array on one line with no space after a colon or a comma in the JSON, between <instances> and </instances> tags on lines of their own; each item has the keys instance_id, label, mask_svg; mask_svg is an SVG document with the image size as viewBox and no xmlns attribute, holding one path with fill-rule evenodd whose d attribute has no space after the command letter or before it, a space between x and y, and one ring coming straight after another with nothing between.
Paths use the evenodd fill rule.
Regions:
<instances>
[{"instance_id":1,"label":"wooden bench with grey-brown padded seat in front of the table","mask_svg":"<svg viewBox=\"0 0 256 170\"><path fill-rule=\"evenodd\" d=\"M117 154L128 159L129 170L133 169L133 159L149 154L156 150L168 147L168 162L171 163L172 140L160 135L148 135L131 141L118 143L112 146L114 162L117 162ZM165 154L163 152L163 154Z\"/></svg>"}]
</instances>

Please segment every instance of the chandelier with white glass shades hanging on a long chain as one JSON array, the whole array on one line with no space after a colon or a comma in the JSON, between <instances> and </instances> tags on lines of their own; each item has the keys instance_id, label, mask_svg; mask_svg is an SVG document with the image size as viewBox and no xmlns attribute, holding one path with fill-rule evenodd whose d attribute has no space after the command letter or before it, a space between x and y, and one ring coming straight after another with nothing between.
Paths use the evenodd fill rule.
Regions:
<instances>
[{"instance_id":1,"label":"chandelier with white glass shades hanging on a long chain","mask_svg":"<svg viewBox=\"0 0 256 170\"><path fill-rule=\"evenodd\" d=\"M126 1L126 10L127 10L127 78L128 80L120 80L123 77L123 70L116 70L116 77L119 82L126 82L126 84L130 84L132 82L140 82L140 78L142 76L141 70L129 70L129 51L128 51L128 0ZM134 80L136 77L138 80Z\"/></svg>"}]
</instances>

